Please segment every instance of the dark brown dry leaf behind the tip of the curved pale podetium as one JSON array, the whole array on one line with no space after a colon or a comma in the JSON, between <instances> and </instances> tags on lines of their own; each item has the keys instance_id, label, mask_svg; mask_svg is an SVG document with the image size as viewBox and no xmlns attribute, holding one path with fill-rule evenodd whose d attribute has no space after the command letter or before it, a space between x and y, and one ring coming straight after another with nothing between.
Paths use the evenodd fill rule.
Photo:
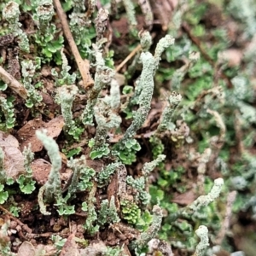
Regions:
<instances>
[{"instance_id":1,"label":"dark brown dry leaf behind the tip of the curved pale podetium","mask_svg":"<svg viewBox=\"0 0 256 256\"><path fill-rule=\"evenodd\" d=\"M45 123L42 119L33 119L26 123L18 131L18 137L20 140L20 148L27 147L29 143L32 145L32 152L39 152L42 150L43 143L36 136L38 129L46 129L49 137L58 137L61 133L64 125L64 119L62 116L58 116L55 119L51 119L48 123Z\"/></svg>"}]
</instances>

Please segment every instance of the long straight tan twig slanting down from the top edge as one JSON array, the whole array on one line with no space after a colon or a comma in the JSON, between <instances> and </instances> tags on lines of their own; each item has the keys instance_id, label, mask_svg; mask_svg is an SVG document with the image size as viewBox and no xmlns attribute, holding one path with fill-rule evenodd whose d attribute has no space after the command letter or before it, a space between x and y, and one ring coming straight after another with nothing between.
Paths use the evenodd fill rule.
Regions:
<instances>
[{"instance_id":1,"label":"long straight tan twig slanting down from the top edge","mask_svg":"<svg viewBox=\"0 0 256 256\"><path fill-rule=\"evenodd\" d=\"M65 37L67 38L67 42L73 52L75 61L77 62L78 66L79 66L79 71L81 73L81 76L82 76L83 82L84 82L84 88L88 89L94 84L93 79L91 79L91 77L90 77L88 61L83 60L81 55L79 54L79 49L73 40L73 35L72 35L70 28L68 26L68 23L67 23L67 15L65 14L65 12L63 11L63 9L61 7L60 0L54 0L53 2L55 4L55 9L59 16L59 19L61 20L61 25L63 27L63 32L65 34Z\"/></svg>"}]
</instances>

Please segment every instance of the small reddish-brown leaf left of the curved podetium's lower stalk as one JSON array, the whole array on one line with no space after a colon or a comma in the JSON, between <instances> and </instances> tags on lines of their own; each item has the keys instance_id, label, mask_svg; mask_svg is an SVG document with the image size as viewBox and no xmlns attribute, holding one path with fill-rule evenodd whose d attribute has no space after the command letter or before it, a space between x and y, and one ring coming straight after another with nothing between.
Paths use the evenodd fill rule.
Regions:
<instances>
[{"instance_id":1,"label":"small reddish-brown leaf left of the curved podetium's lower stalk","mask_svg":"<svg viewBox=\"0 0 256 256\"><path fill-rule=\"evenodd\" d=\"M51 165L48 161L44 159L38 159L32 161L32 171L33 171L33 178L37 181L38 184L44 185L49 176L49 171Z\"/></svg>"}]
</instances>

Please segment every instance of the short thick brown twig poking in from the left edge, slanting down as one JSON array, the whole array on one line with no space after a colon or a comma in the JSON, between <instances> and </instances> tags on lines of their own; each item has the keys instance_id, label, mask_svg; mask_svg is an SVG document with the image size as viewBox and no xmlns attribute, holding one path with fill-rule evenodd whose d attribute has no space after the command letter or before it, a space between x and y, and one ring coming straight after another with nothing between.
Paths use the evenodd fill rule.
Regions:
<instances>
[{"instance_id":1,"label":"short thick brown twig poking in from the left edge, slanting down","mask_svg":"<svg viewBox=\"0 0 256 256\"><path fill-rule=\"evenodd\" d=\"M6 72L3 67L0 66L0 79L9 86L11 90L14 90L21 98L26 99L27 91L25 87L20 84L13 76Z\"/></svg>"}]
</instances>

